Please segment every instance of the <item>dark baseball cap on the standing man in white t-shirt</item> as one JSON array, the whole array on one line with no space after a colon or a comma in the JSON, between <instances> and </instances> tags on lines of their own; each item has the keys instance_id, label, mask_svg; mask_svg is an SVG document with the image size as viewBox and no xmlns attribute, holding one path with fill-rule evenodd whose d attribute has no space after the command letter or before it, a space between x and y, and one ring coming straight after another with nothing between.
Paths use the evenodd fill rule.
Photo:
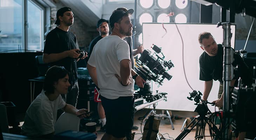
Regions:
<instances>
[{"instance_id":1,"label":"dark baseball cap on the standing man in white t-shirt","mask_svg":"<svg viewBox=\"0 0 256 140\"><path fill-rule=\"evenodd\" d=\"M116 23L119 19L121 19L124 15L127 14L133 14L134 10L133 9L129 9L126 12L120 10L120 11L116 11L114 12L110 18L109 18L109 23L110 23L110 27L113 28L114 27L114 23Z\"/></svg>"}]
</instances>

